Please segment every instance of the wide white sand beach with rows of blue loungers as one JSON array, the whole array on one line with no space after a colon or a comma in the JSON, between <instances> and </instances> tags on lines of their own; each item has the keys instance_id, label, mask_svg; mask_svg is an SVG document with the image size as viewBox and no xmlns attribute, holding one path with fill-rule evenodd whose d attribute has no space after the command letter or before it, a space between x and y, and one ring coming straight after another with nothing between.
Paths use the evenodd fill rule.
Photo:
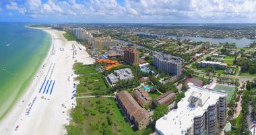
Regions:
<instances>
[{"instance_id":1,"label":"wide white sand beach with rows of blue loungers","mask_svg":"<svg viewBox=\"0 0 256 135\"><path fill-rule=\"evenodd\" d=\"M1 135L65 134L69 110L75 107L72 66L75 60L84 64L94 62L84 46L65 40L64 32L42 30L51 34L51 49L30 87L0 121Z\"/></svg>"}]
</instances>

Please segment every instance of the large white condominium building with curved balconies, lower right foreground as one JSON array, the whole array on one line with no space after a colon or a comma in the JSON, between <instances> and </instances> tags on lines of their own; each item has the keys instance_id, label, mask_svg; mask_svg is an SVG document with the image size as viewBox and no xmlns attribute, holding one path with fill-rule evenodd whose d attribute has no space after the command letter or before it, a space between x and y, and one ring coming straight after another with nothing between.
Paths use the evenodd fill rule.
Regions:
<instances>
[{"instance_id":1,"label":"large white condominium building with curved balconies, lower right foreground","mask_svg":"<svg viewBox=\"0 0 256 135\"><path fill-rule=\"evenodd\" d=\"M156 121L157 135L215 135L226 124L226 93L189 83L189 90L164 117Z\"/></svg>"}]
</instances>

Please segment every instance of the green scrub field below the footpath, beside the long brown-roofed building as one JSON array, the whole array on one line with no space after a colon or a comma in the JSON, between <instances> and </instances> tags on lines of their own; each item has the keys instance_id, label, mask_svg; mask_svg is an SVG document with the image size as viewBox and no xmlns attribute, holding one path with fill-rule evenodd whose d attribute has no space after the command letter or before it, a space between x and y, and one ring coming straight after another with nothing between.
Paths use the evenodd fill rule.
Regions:
<instances>
[{"instance_id":1,"label":"green scrub field below the footpath, beside the long brown-roofed building","mask_svg":"<svg viewBox=\"0 0 256 135\"><path fill-rule=\"evenodd\" d=\"M135 134L114 99L77 99L71 118L69 126L66 126L68 135Z\"/></svg>"}]
</instances>

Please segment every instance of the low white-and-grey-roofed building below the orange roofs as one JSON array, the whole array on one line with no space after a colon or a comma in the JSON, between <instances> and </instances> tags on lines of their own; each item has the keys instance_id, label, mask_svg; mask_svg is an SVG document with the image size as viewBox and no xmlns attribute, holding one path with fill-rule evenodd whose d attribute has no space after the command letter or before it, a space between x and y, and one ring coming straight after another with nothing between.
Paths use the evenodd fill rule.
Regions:
<instances>
[{"instance_id":1,"label":"low white-and-grey-roofed building below the orange roofs","mask_svg":"<svg viewBox=\"0 0 256 135\"><path fill-rule=\"evenodd\" d=\"M107 75L106 81L108 82L108 85L114 86L115 83L121 80L131 80L134 78L133 73L131 72L131 69L125 68L125 69L119 69L114 71L114 73L111 73Z\"/></svg>"}]
</instances>

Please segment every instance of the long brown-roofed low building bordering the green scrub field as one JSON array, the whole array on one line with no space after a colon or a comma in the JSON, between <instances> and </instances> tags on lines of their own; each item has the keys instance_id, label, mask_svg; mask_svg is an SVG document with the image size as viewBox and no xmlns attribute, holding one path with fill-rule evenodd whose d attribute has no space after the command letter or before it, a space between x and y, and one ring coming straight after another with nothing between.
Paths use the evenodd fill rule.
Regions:
<instances>
[{"instance_id":1,"label":"long brown-roofed low building bordering the green scrub field","mask_svg":"<svg viewBox=\"0 0 256 135\"><path fill-rule=\"evenodd\" d=\"M127 118L141 130L150 124L150 114L146 109L139 106L127 91L120 91L117 93L117 101L122 107Z\"/></svg>"}]
</instances>

